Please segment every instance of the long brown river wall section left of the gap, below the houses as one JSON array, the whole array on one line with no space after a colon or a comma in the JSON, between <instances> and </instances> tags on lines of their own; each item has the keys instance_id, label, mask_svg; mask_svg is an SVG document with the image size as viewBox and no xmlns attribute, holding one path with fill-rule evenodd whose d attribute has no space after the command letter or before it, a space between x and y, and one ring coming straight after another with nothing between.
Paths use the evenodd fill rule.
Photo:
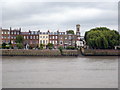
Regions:
<instances>
[{"instance_id":1,"label":"long brown river wall section left of the gap, below the houses","mask_svg":"<svg viewBox=\"0 0 120 90\"><path fill-rule=\"evenodd\" d=\"M3 49L2 56L78 56L78 51Z\"/></svg>"}]
</instances>

